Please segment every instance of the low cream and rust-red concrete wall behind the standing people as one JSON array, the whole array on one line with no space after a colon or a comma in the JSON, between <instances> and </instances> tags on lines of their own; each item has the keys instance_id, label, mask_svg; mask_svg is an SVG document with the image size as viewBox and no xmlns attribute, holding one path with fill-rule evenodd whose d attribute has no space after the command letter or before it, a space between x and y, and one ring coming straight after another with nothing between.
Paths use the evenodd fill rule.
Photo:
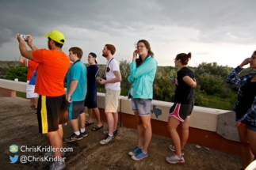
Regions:
<instances>
[{"instance_id":1,"label":"low cream and rust-red concrete wall behind the standing people","mask_svg":"<svg viewBox=\"0 0 256 170\"><path fill-rule=\"evenodd\" d=\"M0 79L0 94L12 96L15 91L25 93L25 82ZM153 100L151 103L151 126L154 134L170 137L167 121L171 102ZM106 120L105 93L97 93L97 106L101 111L101 119ZM136 119L132 111L131 100L127 96L119 99L119 124L136 129ZM178 130L180 130L178 128ZM235 113L214 108L195 106L189 123L190 143L218 149L227 153L240 155L240 142L235 128Z\"/></svg>"}]
</instances>

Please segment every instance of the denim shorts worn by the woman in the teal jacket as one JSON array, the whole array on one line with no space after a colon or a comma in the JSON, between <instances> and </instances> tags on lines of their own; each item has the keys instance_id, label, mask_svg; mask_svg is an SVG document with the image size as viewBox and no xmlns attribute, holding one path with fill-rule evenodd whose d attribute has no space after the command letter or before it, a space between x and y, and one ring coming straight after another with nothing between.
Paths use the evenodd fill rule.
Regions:
<instances>
[{"instance_id":1,"label":"denim shorts worn by the woman in the teal jacket","mask_svg":"<svg viewBox=\"0 0 256 170\"><path fill-rule=\"evenodd\" d=\"M132 111L138 112L139 116L151 115L151 100L132 98Z\"/></svg>"}]
</instances>

